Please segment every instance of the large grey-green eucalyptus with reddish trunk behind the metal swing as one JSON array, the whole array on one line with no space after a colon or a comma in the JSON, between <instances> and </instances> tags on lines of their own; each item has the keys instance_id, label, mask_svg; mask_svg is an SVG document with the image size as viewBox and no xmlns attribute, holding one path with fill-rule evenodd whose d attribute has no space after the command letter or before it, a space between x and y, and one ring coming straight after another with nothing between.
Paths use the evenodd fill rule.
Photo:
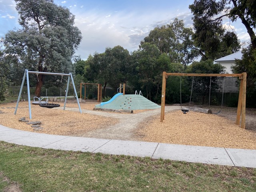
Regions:
<instances>
[{"instance_id":1,"label":"large grey-green eucalyptus with reddish trunk behind the metal swing","mask_svg":"<svg viewBox=\"0 0 256 192\"><path fill-rule=\"evenodd\" d=\"M5 35L5 52L17 58L23 69L71 72L71 58L82 39L80 30L74 25L75 16L53 0L15 1L22 28ZM41 74L36 78L37 96L40 96L44 78Z\"/></svg>"}]
</instances>

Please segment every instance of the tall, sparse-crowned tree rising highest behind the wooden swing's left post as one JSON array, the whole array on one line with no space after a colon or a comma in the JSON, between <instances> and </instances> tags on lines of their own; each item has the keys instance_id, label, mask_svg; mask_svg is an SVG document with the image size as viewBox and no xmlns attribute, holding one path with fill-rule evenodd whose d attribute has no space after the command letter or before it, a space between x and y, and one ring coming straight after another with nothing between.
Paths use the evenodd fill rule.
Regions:
<instances>
[{"instance_id":1,"label":"tall, sparse-crowned tree rising highest behind the wooden swing's left post","mask_svg":"<svg viewBox=\"0 0 256 192\"><path fill-rule=\"evenodd\" d=\"M161 54L166 53L172 63L190 64L199 55L199 50L194 47L192 28L186 28L183 20L175 18L174 22L156 27L140 42L157 46Z\"/></svg>"}]
</instances>

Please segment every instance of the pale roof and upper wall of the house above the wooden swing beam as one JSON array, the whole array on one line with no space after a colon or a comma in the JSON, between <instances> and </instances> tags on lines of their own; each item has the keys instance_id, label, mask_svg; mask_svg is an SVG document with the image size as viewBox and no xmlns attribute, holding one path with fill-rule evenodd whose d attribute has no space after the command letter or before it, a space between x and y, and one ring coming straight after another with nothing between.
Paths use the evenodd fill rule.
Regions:
<instances>
[{"instance_id":1,"label":"pale roof and upper wall of the house above the wooden swing beam","mask_svg":"<svg viewBox=\"0 0 256 192\"><path fill-rule=\"evenodd\" d=\"M214 60L216 63L221 64L222 66L226 67L226 72L229 74L232 74L231 66L235 64L236 59L242 59L242 52L238 51L236 53L233 53L231 55L219 58Z\"/></svg>"}]
</instances>

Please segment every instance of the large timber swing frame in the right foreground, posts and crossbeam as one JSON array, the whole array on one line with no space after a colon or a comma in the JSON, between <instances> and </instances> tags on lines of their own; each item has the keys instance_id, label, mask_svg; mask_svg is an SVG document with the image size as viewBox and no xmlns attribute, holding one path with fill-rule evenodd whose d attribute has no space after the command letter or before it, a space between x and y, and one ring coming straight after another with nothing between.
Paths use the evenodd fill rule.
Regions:
<instances>
[{"instance_id":1,"label":"large timber swing frame in the right foreground, posts and crossbeam","mask_svg":"<svg viewBox=\"0 0 256 192\"><path fill-rule=\"evenodd\" d=\"M166 73L163 72L162 79L162 98L161 98L161 117L160 122L164 121L164 108L165 108L165 93L166 93L166 79L168 76L207 76L207 77L239 77L240 79L240 90L238 98L238 106L236 113L236 124L240 124L241 119L241 128L245 128L245 110L246 110L246 72L241 74L199 74L199 73Z\"/></svg>"}]
</instances>

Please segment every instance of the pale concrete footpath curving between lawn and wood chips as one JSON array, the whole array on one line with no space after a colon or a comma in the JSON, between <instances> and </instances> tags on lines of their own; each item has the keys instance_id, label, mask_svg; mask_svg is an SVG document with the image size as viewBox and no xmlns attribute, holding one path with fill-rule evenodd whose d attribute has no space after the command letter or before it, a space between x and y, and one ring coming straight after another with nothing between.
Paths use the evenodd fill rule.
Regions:
<instances>
[{"instance_id":1,"label":"pale concrete footpath curving between lawn and wood chips","mask_svg":"<svg viewBox=\"0 0 256 192\"><path fill-rule=\"evenodd\" d=\"M31 147L256 168L256 150L40 134L0 125L0 141Z\"/></svg>"}]
</instances>

